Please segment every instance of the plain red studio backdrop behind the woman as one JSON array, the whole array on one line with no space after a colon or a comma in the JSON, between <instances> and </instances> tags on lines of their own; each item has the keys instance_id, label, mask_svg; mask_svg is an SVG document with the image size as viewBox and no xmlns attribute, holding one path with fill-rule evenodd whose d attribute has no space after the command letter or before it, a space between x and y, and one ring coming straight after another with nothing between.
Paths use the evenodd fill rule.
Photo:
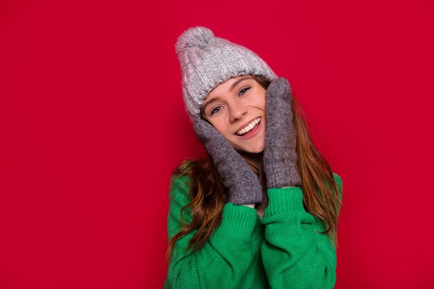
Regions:
<instances>
[{"instance_id":1,"label":"plain red studio backdrop behind the woman","mask_svg":"<svg viewBox=\"0 0 434 289\"><path fill-rule=\"evenodd\" d=\"M162 288L173 168L205 151L177 36L290 80L342 177L336 288L434 288L433 1L0 1L0 288Z\"/></svg>"}]
</instances>

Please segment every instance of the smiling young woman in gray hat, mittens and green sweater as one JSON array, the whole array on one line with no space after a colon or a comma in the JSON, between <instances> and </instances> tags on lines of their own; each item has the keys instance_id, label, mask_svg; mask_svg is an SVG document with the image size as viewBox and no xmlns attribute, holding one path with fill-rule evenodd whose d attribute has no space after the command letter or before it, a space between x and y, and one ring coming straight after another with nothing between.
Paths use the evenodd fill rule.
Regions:
<instances>
[{"instance_id":1,"label":"smiling young woman in gray hat, mittens and green sweater","mask_svg":"<svg viewBox=\"0 0 434 289\"><path fill-rule=\"evenodd\" d=\"M171 179L164 288L333 288L342 179L288 80L205 27L184 31L176 51L208 156Z\"/></svg>"}]
</instances>

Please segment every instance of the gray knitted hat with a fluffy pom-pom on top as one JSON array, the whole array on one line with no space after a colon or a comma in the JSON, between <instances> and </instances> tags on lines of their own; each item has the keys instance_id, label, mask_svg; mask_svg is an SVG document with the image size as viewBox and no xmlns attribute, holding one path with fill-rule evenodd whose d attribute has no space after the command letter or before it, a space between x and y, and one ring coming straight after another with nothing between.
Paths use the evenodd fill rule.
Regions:
<instances>
[{"instance_id":1,"label":"gray knitted hat with a fluffy pom-pom on top","mask_svg":"<svg viewBox=\"0 0 434 289\"><path fill-rule=\"evenodd\" d=\"M277 75L259 55L220 37L209 28L184 31L175 44L182 74L182 94L190 119L200 118L200 107L220 82L254 74L275 80Z\"/></svg>"}]
</instances>

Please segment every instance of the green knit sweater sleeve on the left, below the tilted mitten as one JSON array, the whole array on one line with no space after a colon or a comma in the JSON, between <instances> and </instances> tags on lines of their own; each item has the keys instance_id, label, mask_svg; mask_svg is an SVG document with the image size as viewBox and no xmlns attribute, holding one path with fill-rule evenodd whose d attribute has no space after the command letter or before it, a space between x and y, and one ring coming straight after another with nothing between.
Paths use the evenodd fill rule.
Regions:
<instances>
[{"instance_id":1,"label":"green knit sweater sleeve on the left, below the tilted mitten","mask_svg":"<svg viewBox=\"0 0 434 289\"><path fill-rule=\"evenodd\" d=\"M184 222L192 220L189 210L181 211L190 202L188 177L173 176L170 199L169 239L182 229L181 213ZM265 277L265 272L257 272L257 268L262 268L258 264L261 262L258 218L257 212L249 207L225 204L220 226L201 249L186 251L197 230L176 241L164 288L239 288L241 283L261 282L255 279Z\"/></svg>"}]
</instances>

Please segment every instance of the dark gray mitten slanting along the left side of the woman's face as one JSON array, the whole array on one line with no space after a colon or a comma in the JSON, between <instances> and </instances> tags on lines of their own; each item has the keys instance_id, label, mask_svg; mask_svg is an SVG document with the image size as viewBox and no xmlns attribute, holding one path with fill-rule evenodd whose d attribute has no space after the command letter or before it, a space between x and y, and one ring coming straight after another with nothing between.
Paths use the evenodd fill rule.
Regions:
<instances>
[{"instance_id":1,"label":"dark gray mitten slanting along the left side of the woman's face","mask_svg":"<svg viewBox=\"0 0 434 289\"><path fill-rule=\"evenodd\" d=\"M204 119L194 121L194 131L214 161L232 204L262 203L262 187L257 175L231 144Z\"/></svg>"}]
</instances>

